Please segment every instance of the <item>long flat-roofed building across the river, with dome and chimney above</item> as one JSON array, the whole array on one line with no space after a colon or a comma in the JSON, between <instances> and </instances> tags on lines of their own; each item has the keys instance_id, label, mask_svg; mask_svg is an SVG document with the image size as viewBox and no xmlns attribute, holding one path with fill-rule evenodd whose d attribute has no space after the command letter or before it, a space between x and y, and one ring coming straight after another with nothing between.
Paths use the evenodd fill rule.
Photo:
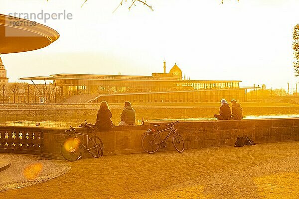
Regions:
<instances>
[{"instance_id":1,"label":"long flat-roofed building across the river, with dome and chimney above","mask_svg":"<svg viewBox=\"0 0 299 199\"><path fill-rule=\"evenodd\" d=\"M91 96L86 102L215 102L225 97L244 101L247 91L240 88L241 81L183 80L176 64L169 73L152 76L55 74L21 80L51 80L59 97Z\"/></svg>"}]
</instances>

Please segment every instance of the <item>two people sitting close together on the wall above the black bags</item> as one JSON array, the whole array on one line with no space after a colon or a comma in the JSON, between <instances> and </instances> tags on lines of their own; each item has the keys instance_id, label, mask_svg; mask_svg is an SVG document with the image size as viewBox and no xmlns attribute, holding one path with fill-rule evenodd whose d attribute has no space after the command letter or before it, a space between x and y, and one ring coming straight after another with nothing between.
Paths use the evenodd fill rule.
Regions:
<instances>
[{"instance_id":1,"label":"two people sitting close together on the wall above the black bags","mask_svg":"<svg viewBox=\"0 0 299 199\"><path fill-rule=\"evenodd\" d=\"M219 114L215 114L214 116L217 119L223 119L223 120L241 120L243 119L243 112L242 112L242 107L240 103L237 103L236 100L231 100L232 103L232 111L225 99L221 100L221 106L219 110Z\"/></svg>"}]
</instances>

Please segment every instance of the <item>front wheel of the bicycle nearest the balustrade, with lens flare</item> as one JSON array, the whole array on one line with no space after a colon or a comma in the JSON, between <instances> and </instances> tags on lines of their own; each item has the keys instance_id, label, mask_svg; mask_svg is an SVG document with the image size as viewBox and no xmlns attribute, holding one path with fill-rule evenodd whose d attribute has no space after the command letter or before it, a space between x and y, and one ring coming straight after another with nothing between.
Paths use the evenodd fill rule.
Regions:
<instances>
[{"instance_id":1,"label":"front wheel of the bicycle nearest the balustrade, with lens flare","mask_svg":"<svg viewBox=\"0 0 299 199\"><path fill-rule=\"evenodd\" d=\"M68 161L77 161L82 156L82 147L80 141L76 138L69 138L61 144L61 154Z\"/></svg>"}]
</instances>

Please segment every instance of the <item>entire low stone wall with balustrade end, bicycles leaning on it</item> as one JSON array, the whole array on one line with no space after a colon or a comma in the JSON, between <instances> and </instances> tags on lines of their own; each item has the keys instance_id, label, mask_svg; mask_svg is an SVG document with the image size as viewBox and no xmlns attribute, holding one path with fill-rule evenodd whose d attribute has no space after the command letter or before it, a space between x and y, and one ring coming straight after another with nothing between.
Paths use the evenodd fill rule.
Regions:
<instances>
[{"instance_id":1,"label":"entire low stone wall with balustrade end, bicycles leaning on it","mask_svg":"<svg viewBox=\"0 0 299 199\"><path fill-rule=\"evenodd\" d=\"M163 125L169 122L156 123L161 125L159 129L163 129L166 128ZM141 146L143 133L149 127L155 128L152 124L130 127L114 126L111 131L107 132L98 131L96 128L76 128L76 131L89 136L99 136L104 143L104 155L141 153L143 152ZM238 136L246 135L256 144L299 140L299 118L181 121L176 127L185 141L185 149L233 146ZM65 130L66 128L2 126L0 127L0 152L33 153L60 159L61 143L68 137ZM8 135L7 138L5 133ZM12 137L13 133L15 138ZM23 139L19 138L20 133L24 136ZM35 139L32 139L33 133ZM161 133L162 138L165 135L165 132ZM84 137L81 139L85 140ZM19 143L23 143L22 146L19 146ZM174 150L171 137L166 143L164 151ZM84 156L90 157L89 154Z\"/></svg>"}]
</instances>

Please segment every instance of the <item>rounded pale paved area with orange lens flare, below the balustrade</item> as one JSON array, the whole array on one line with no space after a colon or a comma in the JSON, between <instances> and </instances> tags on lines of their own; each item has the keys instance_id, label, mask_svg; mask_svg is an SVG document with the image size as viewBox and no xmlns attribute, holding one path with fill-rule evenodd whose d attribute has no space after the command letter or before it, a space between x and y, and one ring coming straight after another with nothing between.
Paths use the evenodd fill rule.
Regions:
<instances>
[{"instance_id":1,"label":"rounded pale paved area with orange lens flare, below the balustrade","mask_svg":"<svg viewBox=\"0 0 299 199\"><path fill-rule=\"evenodd\" d=\"M10 160L10 167L0 172L0 192L46 182L70 170L70 165L40 159L38 156L0 154Z\"/></svg>"}]
</instances>

